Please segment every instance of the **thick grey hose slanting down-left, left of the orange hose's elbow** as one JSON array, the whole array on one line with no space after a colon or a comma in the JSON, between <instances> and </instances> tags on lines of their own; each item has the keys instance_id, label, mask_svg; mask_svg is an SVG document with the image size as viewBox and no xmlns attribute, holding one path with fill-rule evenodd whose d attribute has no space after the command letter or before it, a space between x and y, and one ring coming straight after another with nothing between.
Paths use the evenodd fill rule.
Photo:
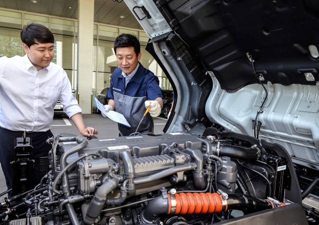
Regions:
<instances>
[{"instance_id":1,"label":"thick grey hose slanting down-left, left of the orange hose's elbow","mask_svg":"<svg viewBox=\"0 0 319 225\"><path fill-rule=\"evenodd\" d=\"M103 185L101 185L95 192L93 199L90 202L89 208L83 221L85 224L92 224L95 222L97 217L101 214L101 211L104 207L106 196L116 189L118 185L117 176L109 177L105 180Z\"/></svg>"}]
</instances>

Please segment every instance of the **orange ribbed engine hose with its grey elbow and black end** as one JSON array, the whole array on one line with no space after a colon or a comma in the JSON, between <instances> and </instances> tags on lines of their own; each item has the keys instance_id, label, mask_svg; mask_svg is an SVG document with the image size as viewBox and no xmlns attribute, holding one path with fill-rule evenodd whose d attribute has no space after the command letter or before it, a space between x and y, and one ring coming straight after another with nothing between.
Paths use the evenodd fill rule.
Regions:
<instances>
[{"instance_id":1,"label":"orange ribbed engine hose with its grey elbow and black end","mask_svg":"<svg viewBox=\"0 0 319 225\"><path fill-rule=\"evenodd\" d=\"M225 193L222 195L224 196ZM219 193L179 193L167 194L151 201L141 217L146 223L156 221L161 214L200 214L224 212L238 209L243 212L256 212L265 209L284 206L284 203L274 199L258 199L240 194Z\"/></svg>"}]
</instances>

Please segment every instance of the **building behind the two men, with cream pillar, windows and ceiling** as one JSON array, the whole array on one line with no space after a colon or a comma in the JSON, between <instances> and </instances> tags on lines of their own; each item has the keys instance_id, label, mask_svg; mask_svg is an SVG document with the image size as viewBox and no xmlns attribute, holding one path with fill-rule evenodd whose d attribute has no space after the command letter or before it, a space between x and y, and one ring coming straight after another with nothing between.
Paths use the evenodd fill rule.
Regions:
<instances>
[{"instance_id":1,"label":"building behind the two men, with cream pillar, windows and ceiling","mask_svg":"<svg viewBox=\"0 0 319 225\"><path fill-rule=\"evenodd\" d=\"M109 86L117 67L113 41L131 33L141 42L142 65L160 80L162 89L172 89L161 67L145 50L148 36L122 1L113 0L2 0L0 1L0 57L23 56L20 31L37 22L55 37L52 62L66 71L74 97L83 113L94 112L94 101Z\"/></svg>"}]
</instances>

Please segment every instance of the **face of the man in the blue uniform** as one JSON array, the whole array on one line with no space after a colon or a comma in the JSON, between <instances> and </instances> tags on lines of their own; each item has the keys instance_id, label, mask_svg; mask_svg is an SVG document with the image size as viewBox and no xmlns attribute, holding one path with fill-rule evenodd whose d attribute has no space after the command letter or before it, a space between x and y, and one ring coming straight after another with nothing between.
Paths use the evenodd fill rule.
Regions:
<instances>
[{"instance_id":1,"label":"face of the man in the blue uniform","mask_svg":"<svg viewBox=\"0 0 319 225\"><path fill-rule=\"evenodd\" d=\"M126 75L132 73L137 67L138 61L141 59L141 53L136 56L134 47L116 48L116 60L119 68L122 69Z\"/></svg>"}]
</instances>

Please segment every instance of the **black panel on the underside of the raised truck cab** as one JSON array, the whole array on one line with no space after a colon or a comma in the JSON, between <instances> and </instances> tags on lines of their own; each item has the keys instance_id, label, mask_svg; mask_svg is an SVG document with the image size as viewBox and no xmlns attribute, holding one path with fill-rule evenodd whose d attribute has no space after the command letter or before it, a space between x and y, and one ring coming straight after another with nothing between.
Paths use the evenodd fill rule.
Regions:
<instances>
[{"instance_id":1,"label":"black panel on the underside of the raised truck cab","mask_svg":"<svg viewBox=\"0 0 319 225\"><path fill-rule=\"evenodd\" d=\"M319 80L318 1L154 2L226 91L259 82L250 54L261 80L283 85ZM159 30L167 27L158 24Z\"/></svg>"}]
</instances>

